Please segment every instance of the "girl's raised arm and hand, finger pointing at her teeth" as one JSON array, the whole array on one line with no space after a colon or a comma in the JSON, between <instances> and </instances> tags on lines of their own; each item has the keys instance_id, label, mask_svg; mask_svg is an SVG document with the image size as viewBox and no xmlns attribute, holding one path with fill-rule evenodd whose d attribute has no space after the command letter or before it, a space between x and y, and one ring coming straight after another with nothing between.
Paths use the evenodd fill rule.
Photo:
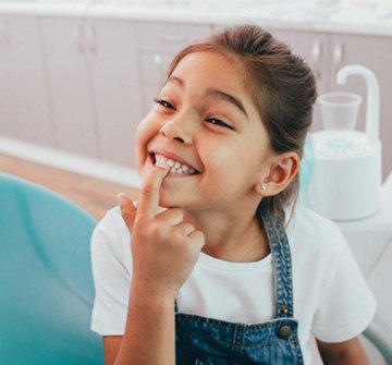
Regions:
<instances>
[{"instance_id":1,"label":"girl's raised arm and hand, finger pointing at her teeth","mask_svg":"<svg viewBox=\"0 0 392 365\"><path fill-rule=\"evenodd\" d=\"M123 337L107 337L106 364L174 365L174 299L204 245L200 231L172 208L157 214L167 171L147 178L138 208L123 196L121 212L132 233L133 276Z\"/></svg>"}]
</instances>

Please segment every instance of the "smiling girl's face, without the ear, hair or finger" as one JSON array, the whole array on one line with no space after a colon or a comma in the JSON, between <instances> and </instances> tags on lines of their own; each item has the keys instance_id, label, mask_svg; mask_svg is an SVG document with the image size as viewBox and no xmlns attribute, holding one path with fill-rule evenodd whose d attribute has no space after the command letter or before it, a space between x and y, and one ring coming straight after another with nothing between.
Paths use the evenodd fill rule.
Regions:
<instances>
[{"instance_id":1,"label":"smiling girl's face, without the ear, hair or finger","mask_svg":"<svg viewBox=\"0 0 392 365\"><path fill-rule=\"evenodd\" d=\"M269 142L247 89L240 65L220 53L179 63L136 133L142 180L158 155L181 165L162 183L161 206L225 210L260 199Z\"/></svg>"}]
</instances>

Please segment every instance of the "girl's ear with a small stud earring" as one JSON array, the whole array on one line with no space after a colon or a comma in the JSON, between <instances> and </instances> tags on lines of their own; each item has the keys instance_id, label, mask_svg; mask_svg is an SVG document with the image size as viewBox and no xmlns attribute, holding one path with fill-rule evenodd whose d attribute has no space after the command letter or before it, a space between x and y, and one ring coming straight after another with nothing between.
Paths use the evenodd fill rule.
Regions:
<instances>
[{"instance_id":1,"label":"girl's ear with a small stud earring","mask_svg":"<svg viewBox=\"0 0 392 365\"><path fill-rule=\"evenodd\" d=\"M282 192L293 181L299 169L299 156L294 151L277 155L269 166L269 173L260 177L256 192L272 196Z\"/></svg>"}]
</instances>

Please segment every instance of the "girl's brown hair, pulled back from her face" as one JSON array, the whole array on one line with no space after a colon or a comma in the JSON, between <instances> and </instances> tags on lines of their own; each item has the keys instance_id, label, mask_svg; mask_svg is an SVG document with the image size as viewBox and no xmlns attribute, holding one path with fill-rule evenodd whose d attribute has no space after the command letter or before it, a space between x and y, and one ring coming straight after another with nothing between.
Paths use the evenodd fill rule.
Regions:
<instances>
[{"instance_id":1,"label":"girl's brown hair, pulled back from her face","mask_svg":"<svg viewBox=\"0 0 392 365\"><path fill-rule=\"evenodd\" d=\"M168 75L185 56L199 51L220 52L243 65L244 82L267 127L271 149L302 157L317 96L315 77L304 60L270 33L243 25L186 47L172 61ZM284 207L296 199L298 185L296 175L280 194L264 198L260 208L284 219Z\"/></svg>"}]
</instances>

